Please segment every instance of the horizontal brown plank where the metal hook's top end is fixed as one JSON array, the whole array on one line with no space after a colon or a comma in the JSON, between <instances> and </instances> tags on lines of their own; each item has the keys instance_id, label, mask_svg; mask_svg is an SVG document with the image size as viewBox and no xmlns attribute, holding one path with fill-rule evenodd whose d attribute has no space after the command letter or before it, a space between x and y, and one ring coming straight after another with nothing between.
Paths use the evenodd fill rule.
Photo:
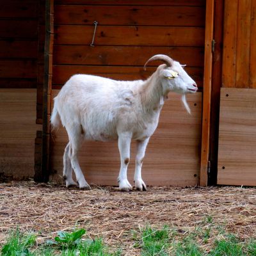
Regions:
<instances>
[{"instance_id":1,"label":"horizontal brown plank where the metal hook's top end is fixed","mask_svg":"<svg viewBox=\"0 0 256 256\"><path fill-rule=\"evenodd\" d=\"M204 27L205 8L202 6L93 5L56 5L54 8L54 24L92 25L95 20L99 25Z\"/></svg>"}]
</instances>

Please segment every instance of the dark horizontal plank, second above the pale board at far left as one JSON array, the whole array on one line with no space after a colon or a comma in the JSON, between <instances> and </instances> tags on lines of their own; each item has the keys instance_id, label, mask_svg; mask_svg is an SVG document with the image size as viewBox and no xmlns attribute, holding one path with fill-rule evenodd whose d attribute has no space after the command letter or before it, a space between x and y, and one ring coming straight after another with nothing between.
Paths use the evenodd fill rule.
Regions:
<instances>
[{"instance_id":1,"label":"dark horizontal plank, second above the pale board at far left","mask_svg":"<svg viewBox=\"0 0 256 256\"><path fill-rule=\"evenodd\" d=\"M36 60L0 60L0 77L36 78Z\"/></svg>"}]
</instances>

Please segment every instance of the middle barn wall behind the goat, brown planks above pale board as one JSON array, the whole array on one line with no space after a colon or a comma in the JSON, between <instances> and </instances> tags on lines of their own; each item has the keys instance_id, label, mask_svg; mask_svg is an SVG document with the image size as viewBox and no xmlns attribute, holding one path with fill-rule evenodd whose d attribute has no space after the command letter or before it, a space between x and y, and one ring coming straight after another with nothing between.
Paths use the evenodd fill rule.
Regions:
<instances>
[{"instance_id":1,"label":"middle barn wall behind the goat, brown planks above pale board","mask_svg":"<svg viewBox=\"0 0 256 256\"><path fill-rule=\"evenodd\" d=\"M98 23L90 46L94 21ZM201 0L54 0L52 97L76 73L146 79L160 62L149 63L147 71L143 65L159 53L186 64L202 91L204 35L205 1ZM200 170L202 93L189 97L192 116L184 111L179 97L172 97L148 146L146 181L155 185L195 185ZM59 180L67 134L61 129L52 131L51 136L52 179ZM116 184L118 165L116 143L86 143L81 152L81 167L89 182Z\"/></svg>"}]
</instances>

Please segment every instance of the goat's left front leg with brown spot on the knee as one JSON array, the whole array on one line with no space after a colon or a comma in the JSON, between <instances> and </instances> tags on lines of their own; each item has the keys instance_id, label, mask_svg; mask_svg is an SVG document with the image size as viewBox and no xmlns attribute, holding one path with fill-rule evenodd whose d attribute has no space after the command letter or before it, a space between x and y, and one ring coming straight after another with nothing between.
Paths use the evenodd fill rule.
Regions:
<instances>
[{"instance_id":1,"label":"goat's left front leg with brown spot on the knee","mask_svg":"<svg viewBox=\"0 0 256 256\"><path fill-rule=\"evenodd\" d=\"M120 152L120 172L118 176L119 188L122 191L131 191L132 186L127 180L127 168L130 161L131 134L125 133L118 136L118 149Z\"/></svg>"}]
</instances>

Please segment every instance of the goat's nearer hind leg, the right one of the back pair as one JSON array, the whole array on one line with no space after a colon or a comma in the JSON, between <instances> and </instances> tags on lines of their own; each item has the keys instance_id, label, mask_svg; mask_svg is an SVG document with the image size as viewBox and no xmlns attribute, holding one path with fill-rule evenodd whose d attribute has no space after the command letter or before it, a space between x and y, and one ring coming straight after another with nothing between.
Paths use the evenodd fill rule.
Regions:
<instances>
[{"instance_id":1,"label":"goat's nearer hind leg, the right one of the back pair","mask_svg":"<svg viewBox=\"0 0 256 256\"><path fill-rule=\"evenodd\" d=\"M76 127L75 125L71 127L71 129L67 129L68 138L70 141L71 147L71 166L76 174L76 179L79 184L79 188L81 189L90 189L90 185L84 179L83 172L78 162L78 150L81 147L81 143L83 141L83 136L81 134L81 127L80 125Z\"/></svg>"}]
</instances>

